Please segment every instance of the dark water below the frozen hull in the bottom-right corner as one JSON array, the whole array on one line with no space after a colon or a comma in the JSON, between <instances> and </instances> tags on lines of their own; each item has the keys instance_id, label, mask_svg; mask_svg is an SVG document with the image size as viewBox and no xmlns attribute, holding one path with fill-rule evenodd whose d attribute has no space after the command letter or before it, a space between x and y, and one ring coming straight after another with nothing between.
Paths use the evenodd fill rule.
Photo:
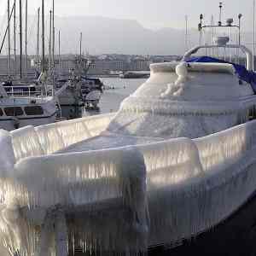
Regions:
<instances>
[{"instance_id":1,"label":"dark water below the frozen hull in the bottom-right corner","mask_svg":"<svg viewBox=\"0 0 256 256\"><path fill-rule=\"evenodd\" d=\"M254 255L256 253L255 193L239 210L199 236L176 247L160 244L148 248L148 255Z\"/></svg>"}]
</instances>

